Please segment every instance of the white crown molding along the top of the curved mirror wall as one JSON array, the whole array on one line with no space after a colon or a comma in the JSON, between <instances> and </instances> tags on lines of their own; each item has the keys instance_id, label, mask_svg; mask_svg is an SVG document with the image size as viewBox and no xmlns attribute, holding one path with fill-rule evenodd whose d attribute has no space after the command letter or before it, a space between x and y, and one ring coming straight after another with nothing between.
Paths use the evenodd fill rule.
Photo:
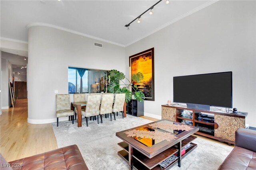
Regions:
<instances>
[{"instance_id":1,"label":"white crown molding along the top of the curved mirror wall","mask_svg":"<svg viewBox=\"0 0 256 170\"><path fill-rule=\"evenodd\" d=\"M115 43L115 42L112 42L112 41L108 41L106 39L101 39L101 38L98 38L98 37L94 37L92 35L88 35L88 34L85 34L85 33L81 33L81 32L78 32L78 31L74 31L72 29L67 29L67 28L64 28L64 27L59 27L57 25L52 25L50 23L40 23L40 22L37 22L37 23L30 23L28 25L26 25L26 28L29 29L30 27L33 27L33 26L46 26L46 27L52 27L52 28L56 28L56 29L60 29L62 31L67 31L67 32L70 32L70 33L74 33L74 34L77 34L77 35L82 35L84 37L88 37L88 38L92 38L92 39L96 39L96 40L99 40L99 41L103 41L105 43L110 43L110 44L114 44L114 45L118 45L118 46L121 46L121 47L125 47L125 45L123 44L119 44L119 43Z\"/></svg>"}]
</instances>

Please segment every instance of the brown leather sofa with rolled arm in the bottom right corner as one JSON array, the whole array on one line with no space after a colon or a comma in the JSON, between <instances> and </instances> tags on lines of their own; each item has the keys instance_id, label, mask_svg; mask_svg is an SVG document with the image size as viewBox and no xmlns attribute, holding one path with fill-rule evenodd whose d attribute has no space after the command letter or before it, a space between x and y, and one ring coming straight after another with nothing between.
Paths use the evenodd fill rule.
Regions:
<instances>
[{"instance_id":1,"label":"brown leather sofa with rolled arm in the bottom right corner","mask_svg":"<svg viewBox=\"0 0 256 170\"><path fill-rule=\"evenodd\" d=\"M239 128L235 136L235 147L219 170L256 170L256 131Z\"/></svg>"}]
</instances>

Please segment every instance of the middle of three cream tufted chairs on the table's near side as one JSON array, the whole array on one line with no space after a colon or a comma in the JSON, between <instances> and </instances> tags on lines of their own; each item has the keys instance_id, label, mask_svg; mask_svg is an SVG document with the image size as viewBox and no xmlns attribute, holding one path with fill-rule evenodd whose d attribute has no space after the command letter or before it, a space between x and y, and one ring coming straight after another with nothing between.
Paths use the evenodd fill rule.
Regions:
<instances>
[{"instance_id":1,"label":"middle of three cream tufted chairs on the table's near side","mask_svg":"<svg viewBox=\"0 0 256 170\"><path fill-rule=\"evenodd\" d=\"M102 123L102 115L106 115L110 113L110 119L112 121L112 106L114 101L114 94L102 94L102 100L100 104L100 121ZM115 117L115 114L114 114ZM116 117L115 117L116 119Z\"/></svg>"}]
</instances>

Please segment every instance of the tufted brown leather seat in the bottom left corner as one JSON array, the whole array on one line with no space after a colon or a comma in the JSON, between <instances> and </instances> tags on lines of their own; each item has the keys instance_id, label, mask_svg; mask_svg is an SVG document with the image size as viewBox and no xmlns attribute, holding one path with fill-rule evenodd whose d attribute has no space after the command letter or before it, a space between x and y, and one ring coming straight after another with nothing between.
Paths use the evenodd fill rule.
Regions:
<instances>
[{"instance_id":1,"label":"tufted brown leather seat in the bottom left corner","mask_svg":"<svg viewBox=\"0 0 256 170\"><path fill-rule=\"evenodd\" d=\"M4 162L1 155L1 170L88 170L76 145L70 145L42 154Z\"/></svg>"}]
</instances>

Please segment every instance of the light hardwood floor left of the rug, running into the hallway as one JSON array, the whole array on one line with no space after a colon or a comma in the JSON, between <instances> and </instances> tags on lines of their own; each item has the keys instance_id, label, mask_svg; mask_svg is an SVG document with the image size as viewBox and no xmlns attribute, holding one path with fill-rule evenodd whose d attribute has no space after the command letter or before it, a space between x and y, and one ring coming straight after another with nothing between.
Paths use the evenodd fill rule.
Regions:
<instances>
[{"instance_id":1,"label":"light hardwood floor left of the rug, running into the hallway","mask_svg":"<svg viewBox=\"0 0 256 170\"><path fill-rule=\"evenodd\" d=\"M27 99L16 100L14 108L3 109L0 119L0 149L8 162L58 148L51 123L27 122Z\"/></svg>"}]
</instances>

